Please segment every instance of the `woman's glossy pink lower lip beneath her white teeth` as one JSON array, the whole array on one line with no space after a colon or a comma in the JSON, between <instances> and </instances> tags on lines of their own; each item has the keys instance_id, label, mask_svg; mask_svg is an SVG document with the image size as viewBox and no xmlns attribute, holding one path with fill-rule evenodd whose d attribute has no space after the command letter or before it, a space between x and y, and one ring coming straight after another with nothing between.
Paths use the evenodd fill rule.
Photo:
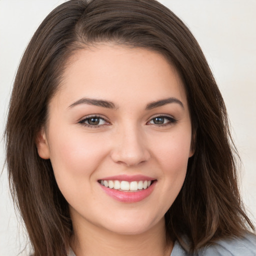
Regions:
<instances>
[{"instance_id":1,"label":"woman's glossy pink lower lip beneath her white teeth","mask_svg":"<svg viewBox=\"0 0 256 256\"><path fill-rule=\"evenodd\" d=\"M101 184L101 188L106 192L109 196L112 198L121 201L121 202L138 202L143 199L145 199L147 196L151 194L151 192L154 189L156 180L146 189L142 189L139 191L134 191L134 192L124 192L124 191L119 191L117 189L105 187Z\"/></svg>"}]
</instances>

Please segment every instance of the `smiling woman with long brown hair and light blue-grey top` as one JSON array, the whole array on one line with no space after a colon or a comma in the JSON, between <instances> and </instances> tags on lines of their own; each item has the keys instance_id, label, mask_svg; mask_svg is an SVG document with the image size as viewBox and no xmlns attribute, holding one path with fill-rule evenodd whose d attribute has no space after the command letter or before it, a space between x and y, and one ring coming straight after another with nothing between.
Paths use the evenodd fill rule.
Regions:
<instances>
[{"instance_id":1,"label":"smiling woman with long brown hair and light blue-grey top","mask_svg":"<svg viewBox=\"0 0 256 256\"><path fill-rule=\"evenodd\" d=\"M256 253L220 92L154 0L55 8L20 62L5 134L35 256Z\"/></svg>"}]
</instances>

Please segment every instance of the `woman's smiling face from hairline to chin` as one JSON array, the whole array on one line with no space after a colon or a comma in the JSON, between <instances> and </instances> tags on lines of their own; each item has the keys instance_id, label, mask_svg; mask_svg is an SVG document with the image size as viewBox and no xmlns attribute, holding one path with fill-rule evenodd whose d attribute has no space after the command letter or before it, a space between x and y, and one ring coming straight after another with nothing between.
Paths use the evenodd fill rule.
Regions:
<instances>
[{"instance_id":1,"label":"woman's smiling face from hairline to chin","mask_svg":"<svg viewBox=\"0 0 256 256\"><path fill-rule=\"evenodd\" d=\"M159 53L99 45L69 60L37 148L72 221L141 233L163 221L192 155L185 91Z\"/></svg>"}]
</instances>

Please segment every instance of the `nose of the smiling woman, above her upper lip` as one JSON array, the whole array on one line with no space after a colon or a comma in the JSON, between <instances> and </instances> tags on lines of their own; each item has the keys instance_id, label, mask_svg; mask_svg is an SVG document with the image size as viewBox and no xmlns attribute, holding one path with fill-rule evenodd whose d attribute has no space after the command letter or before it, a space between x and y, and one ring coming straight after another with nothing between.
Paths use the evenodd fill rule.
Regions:
<instances>
[{"instance_id":1,"label":"nose of the smiling woman, above her upper lip","mask_svg":"<svg viewBox=\"0 0 256 256\"><path fill-rule=\"evenodd\" d=\"M126 166L137 165L148 161L150 152L146 139L137 127L126 127L114 136L111 158L114 162Z\"/></svg>"}]
</instances>

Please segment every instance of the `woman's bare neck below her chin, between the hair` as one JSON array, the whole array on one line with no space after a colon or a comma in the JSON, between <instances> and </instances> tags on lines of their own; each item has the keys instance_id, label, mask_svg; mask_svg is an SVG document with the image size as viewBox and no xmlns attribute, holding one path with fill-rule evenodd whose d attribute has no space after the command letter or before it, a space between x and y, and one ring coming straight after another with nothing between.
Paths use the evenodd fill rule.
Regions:
<instances>
[{"instance_id":1,"label":"woman's bare neck below her chin, between the hair","mask_svg":"<svg viewBox=\"0 0 256 256\"><path fill-rule=\"evenodd\" d=\"M76 256L169 256L173 244L167 241L164 218L139 234L120 234L92 223L73 223L70 245Z\"/></svg>"}]
</instances>

